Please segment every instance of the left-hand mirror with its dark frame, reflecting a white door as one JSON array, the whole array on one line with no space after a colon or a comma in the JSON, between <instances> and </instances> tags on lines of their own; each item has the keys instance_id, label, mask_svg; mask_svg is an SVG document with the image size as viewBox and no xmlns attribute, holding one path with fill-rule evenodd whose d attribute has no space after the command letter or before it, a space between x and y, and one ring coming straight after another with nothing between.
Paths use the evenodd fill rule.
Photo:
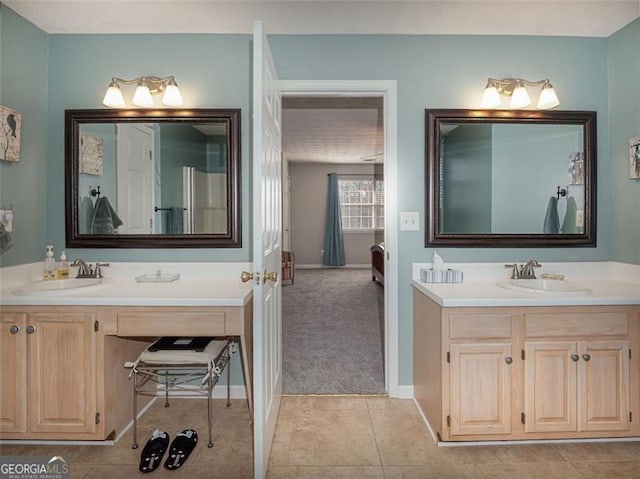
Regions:
<instances>
[{"instance_id":1,"label":"left-hand mirror with its dark frame, reflecting a white door","mask_svg":"<svg viewBox=\"0 0 640 479\"><path fill-rule=\"evenodd\" d=\"M242 246L240 110L66 110L68 247Z\"/></svg>"}]
</instances>

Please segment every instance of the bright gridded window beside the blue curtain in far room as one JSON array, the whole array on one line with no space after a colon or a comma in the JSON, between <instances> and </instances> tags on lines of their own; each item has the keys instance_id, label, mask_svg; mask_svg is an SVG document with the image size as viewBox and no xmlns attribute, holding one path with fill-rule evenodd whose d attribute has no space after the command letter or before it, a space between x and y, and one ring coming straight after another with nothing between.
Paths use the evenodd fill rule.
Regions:
<instances>
[{"instance_id":1,"label":"bright gridded window beside the blue curtain in far room","mask_svg":"<svg viewBox=\"0 0 640 479\"><path fill-rule=\"evenodd\" d=\"M384 181L373 175L338 177L342 229L384 229Z\"/></svg>"}]
</instances>

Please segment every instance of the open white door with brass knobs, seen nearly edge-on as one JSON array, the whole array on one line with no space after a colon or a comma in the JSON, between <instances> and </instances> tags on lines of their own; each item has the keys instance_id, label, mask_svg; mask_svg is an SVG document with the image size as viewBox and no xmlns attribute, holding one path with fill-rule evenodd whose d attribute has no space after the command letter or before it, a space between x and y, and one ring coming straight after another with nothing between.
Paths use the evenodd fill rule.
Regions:
<instances>
[{"instance_id":1,"label":"open white door with brass knobs, seen nearly edge-on","mask_svg":"<svg viewBox=\"0 0 640 479\"><path fill-rule=\"evenodd\" d=\"M282 393L282 174L278 75L262 22L253 27L254 468L264 478ZM272 274L277 274L274 278ZM271 279L265 280L265 277Z\"/></svg>"}]
</instances>

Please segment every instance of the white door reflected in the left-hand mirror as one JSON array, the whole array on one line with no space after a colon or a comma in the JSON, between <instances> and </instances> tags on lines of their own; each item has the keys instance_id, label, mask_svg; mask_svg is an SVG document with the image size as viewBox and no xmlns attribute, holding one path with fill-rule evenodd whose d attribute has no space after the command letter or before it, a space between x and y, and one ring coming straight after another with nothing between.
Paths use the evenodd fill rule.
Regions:
<instances>
[{"instance_id":1,"label":"white door reflected in the left-hand mirror","mask_svg":"<svg viewBox=\"0 0 640 479\"><path fill-rule=\"evenodd\" d=\"M153 130L145 125L118 125L117 206L120 234L153 233Z\"/></svg>"}]
</instances>

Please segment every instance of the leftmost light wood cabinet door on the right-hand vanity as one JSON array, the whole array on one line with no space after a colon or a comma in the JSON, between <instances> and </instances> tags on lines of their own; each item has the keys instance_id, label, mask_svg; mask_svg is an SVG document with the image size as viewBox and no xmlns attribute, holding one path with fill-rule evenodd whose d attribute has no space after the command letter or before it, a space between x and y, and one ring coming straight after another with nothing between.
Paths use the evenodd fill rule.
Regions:
<instances>
[{"instance_id":1,"label":"leftmost light wood cabinet door on the right-hand vanity","mask_svg":"<svg viewBox=\"0 0 640 479\"><path fill-rule=\"evenodd\" d=\"M451 435L511 432L511 343L451 344Z\"/></svg>"}]
</instances>

